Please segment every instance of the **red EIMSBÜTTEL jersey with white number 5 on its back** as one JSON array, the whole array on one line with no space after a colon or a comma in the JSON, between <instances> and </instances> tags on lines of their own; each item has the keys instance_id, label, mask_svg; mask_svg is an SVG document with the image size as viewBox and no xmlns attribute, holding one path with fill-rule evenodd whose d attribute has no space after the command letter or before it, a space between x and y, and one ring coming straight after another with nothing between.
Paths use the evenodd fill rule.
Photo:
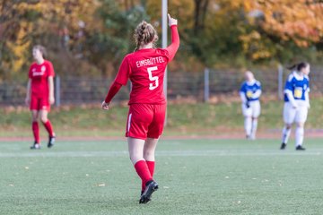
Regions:
<instances>
[{"instance_id":1,"label":"red EIMSB\u00dcTTEL jersey with white number 5 on its back","mask_svg":"<svg viewBox=\"0 0 323 215\"><path fill-rule=\"evenodd\" d=\"M146 48L127 55L115 82L122 85L132 82L130 104L164 104L163 78L169 54L166 49Z\"/></svg>"}]
</instances>

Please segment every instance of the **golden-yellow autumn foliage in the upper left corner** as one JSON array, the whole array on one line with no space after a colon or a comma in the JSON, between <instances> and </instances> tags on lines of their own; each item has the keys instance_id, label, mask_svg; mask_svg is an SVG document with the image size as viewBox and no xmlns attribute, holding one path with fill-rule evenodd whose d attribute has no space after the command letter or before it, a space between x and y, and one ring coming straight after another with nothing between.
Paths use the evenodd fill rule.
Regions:
<instances>
[{"instance_id":1,"label":"golden-yellow autumn foliage in the upper left corner","mask_svg":"<svg viewBox=\"0 0 323 215\"><path fill-rule=\"evenodd\" d=\"M54 53L52 56L57 56L55 53L64 55L57 46L61 39L59 30L63 26L69 30L72 38L70 43L73 47L78 42L74 37L79 30L78 22L83 21L88 24L84 31L97 28L97 23L100 22L93 21L95 19L93 13L97 7L98 2L92 0L2 0L0 4L0 77L17 78L19 72L26 71L31 64L31 47L35 44L40 43L48 47L49 53ZM61 59L66 57L68 55ZM59 65L57 64L58 67Z\"/></svg>"}]
</instances>

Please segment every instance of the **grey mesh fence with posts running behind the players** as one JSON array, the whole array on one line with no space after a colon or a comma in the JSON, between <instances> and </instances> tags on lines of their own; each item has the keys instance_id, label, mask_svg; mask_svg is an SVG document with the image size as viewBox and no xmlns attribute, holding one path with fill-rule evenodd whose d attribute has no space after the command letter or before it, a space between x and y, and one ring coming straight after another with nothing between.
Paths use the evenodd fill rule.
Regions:
<instances>
[{"instance_id":1,"label":"grey mesh fence with posts running behind the players","mask_svg":"<svg viewBox=\"0 0 323 215\"><path fill-rule=\"evenodd\" d=\"M264 94L282 96L288 71L276 68L273 71L254 70L262 83ZM240 90L243 73L235 70L216 71L205 69L200 73L168 73L168 99L192 98L207 101L209 98ZM113 80L85 77L59 77L56 83L57 106L64 104L100 103ZM323 92L323 69L312 67L310 73L311 92ZM127 100L130 84L123 87L114 101ZM22 105L26 95L26 82L1 82L0 105Z\"/></svg>"}]
</instances>

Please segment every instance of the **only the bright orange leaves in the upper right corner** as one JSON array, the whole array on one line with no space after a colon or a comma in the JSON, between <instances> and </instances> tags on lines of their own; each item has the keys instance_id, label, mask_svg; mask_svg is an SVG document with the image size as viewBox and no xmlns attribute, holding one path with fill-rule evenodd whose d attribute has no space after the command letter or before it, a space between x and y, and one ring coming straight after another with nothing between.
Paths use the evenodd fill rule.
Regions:
<instances>
[{"instance_id":1,"label":"only the bright orange leaves in the upper right corner","mask_svg":"<svg viewBox=\"0 0 323 215\"><path fill-rule=\"evenodd\" d=\"M247 12L259 10L264 14L264 30L293 39L300 47L318 42L323 35L323 3L309 0L246 0ZM251 18L250 18L251 19Z\"/></svg>"}]
</instances>

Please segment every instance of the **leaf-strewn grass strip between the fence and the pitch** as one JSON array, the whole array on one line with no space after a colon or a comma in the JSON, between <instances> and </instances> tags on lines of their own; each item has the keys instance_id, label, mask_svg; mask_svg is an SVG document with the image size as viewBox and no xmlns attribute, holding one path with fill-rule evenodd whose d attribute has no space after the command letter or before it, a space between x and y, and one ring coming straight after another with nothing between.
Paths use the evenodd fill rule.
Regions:
<instances>
[{"instance_id":1,"label":"leaf-strewn grass strip between the fence and the pitch","mask_svg":"<svg viewBox=\"0 0 323 215\"><path fill-rule=\"evenodd\" d=\"M311 101L307 129L323 128L323 98ZM283 128L283 101L263 101L259 130ZM53 108L49 114L58 136L120 136L125 133L128 107L113 105L103 111L92 107ZM41 127L41 133L45 130ZM170 104L166 135L243 133L240 102ZM30 137L31 113L27 107L0 108L0 137Z\"/></svg>"}]
</instances>

